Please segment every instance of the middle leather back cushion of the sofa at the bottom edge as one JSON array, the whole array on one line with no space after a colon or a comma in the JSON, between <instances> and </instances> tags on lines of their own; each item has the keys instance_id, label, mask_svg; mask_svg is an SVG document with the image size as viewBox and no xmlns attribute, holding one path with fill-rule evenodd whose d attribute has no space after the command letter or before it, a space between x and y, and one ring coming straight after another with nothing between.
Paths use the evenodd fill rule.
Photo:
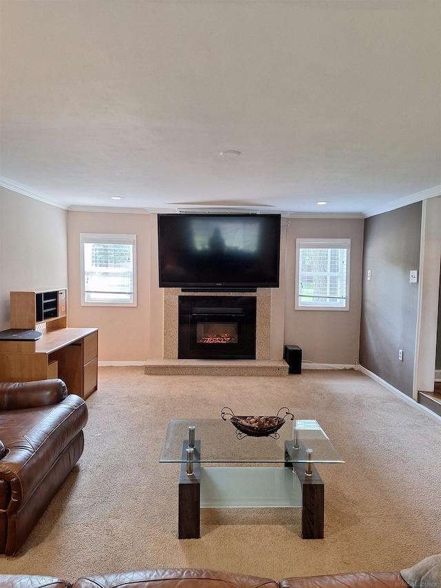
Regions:
<instances>
[{"instance_id":1,"label":"middle leather back cushion of the sofa at the bottom edge","mask_svg":"<svg viewBox=\"0 0 441 588\"><path fill-rule=\"evenodd\" d=\"M278 588L268 578L209 569L149 569L79 578L72 588Z\"/></svg>"}]
</instances>

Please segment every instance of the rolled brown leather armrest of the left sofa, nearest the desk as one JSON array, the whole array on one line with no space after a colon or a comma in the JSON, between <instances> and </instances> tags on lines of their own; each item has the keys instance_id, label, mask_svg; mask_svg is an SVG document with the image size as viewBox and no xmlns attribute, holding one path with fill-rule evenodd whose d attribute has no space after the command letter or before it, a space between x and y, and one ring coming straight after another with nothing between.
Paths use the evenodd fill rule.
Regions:
<instances>
[{"instance_id":1,"label":"rolled brown leather armrest of the left sofa, nearest the desk","mask_svg":"<svg viewBox=\"0 0 441 588\"><path fill-rule=\"evenodd\" d=\"M68 396L63 380L0 383L0 410L17 410L58 404Z\"/></svg>"}]
</instances>

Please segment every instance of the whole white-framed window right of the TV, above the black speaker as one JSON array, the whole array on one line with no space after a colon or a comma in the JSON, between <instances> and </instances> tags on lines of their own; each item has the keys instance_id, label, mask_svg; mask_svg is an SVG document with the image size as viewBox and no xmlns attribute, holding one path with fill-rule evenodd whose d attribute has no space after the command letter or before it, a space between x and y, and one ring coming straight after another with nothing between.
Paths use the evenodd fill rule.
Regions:
<instances>
[{"instance_id":1,"label":"whole white-framed window right of the TV, above the black speaker","mask_svg":"<svg viewBox=\"0 0 441 588\"><path fill-rule=\"evenodd\" d=\"M296 310L349 310L351 239L296 239Z\"/></svg>"}]
</instances>

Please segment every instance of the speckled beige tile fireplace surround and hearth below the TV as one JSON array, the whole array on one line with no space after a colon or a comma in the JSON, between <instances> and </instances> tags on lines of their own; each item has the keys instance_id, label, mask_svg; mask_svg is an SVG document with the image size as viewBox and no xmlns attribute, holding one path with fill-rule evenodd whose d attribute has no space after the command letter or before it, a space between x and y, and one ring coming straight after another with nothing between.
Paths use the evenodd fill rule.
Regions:
<instances>
[{"instance_id":1,"label":"speckled beige tile fireplace surround and hearth below the TV","mask_svg":"<svg viewBox=\"0 0 441 588\"><path fill-rule=\"evenodd\" d=\"M256 359L255 360L190 360L178 359L178 297L179 296L255 296ZM271 289L257 292L227 292L220 294L181 292L181 288L164 290L164 347L163 360L147 361L145 374L206 374L206 375L262 375L285 376L288 365L284 360L271 360Z\"/></svg>"}]
</instances>

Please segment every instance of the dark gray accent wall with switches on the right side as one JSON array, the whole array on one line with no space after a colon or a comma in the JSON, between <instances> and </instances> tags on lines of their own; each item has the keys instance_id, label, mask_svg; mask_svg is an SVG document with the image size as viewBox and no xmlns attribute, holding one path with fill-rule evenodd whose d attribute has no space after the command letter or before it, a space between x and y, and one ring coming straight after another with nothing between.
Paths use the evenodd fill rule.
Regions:
<instances>
[{"instance_id":1,"label":"dark gray accent wall with switches on the right side","mask_svg":"<svg viewBox=\"0 0 441 588\"><path fill-rule=\"evenodd\" d=\"M409 282L409 272L420 269L421 219L421 202L371 216L363 252L360 365L410 397L418 283Z\"/></svg>"}]
</instances>

